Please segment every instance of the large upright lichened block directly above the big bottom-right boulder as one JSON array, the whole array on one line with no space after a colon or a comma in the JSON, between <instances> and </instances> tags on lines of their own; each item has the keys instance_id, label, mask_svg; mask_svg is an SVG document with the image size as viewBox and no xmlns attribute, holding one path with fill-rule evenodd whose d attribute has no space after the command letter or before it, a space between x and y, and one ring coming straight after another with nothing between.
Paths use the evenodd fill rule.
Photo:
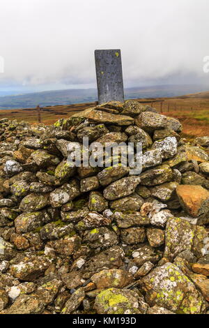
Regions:
<instances>
[{"instance_id":1,"label":"large upright lichened block directly above the big bottom-right boulder","mask_svg":"<svg viewBox=\"0 0 209 328\"><path fill-rule=\"evenodd\" d=\"M164 258L173 260L182 251L191 251L197 258L204 255L206 229L182 218L169 218L165 232Z\"/></svg>"}]
</instances>

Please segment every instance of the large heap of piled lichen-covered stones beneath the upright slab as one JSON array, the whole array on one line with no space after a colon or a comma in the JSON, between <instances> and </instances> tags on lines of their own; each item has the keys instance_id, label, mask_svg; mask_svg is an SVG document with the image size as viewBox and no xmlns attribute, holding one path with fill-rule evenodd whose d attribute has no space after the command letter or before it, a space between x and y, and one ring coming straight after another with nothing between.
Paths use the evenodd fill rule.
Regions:
<instances>
[{"instance_id":1,"label":"large heap of piled lichen-covered stones beneath the upright slab","mask_svg":"<svg viewBox=\"0 0 209 328\"><path fill-rule=\"evenodd\" d=\"M0 313L208 313L209 137L137 101L54 126L0 120ZM142 142L143 170L69 144Z\"/></svg>"}]
</instances>

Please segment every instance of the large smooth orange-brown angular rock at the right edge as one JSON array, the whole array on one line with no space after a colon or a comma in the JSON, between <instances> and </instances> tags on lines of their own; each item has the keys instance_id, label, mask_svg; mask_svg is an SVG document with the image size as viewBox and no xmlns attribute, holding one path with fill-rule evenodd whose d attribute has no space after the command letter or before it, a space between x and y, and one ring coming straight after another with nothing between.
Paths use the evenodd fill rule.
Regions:
<instances>
[{"instance_id":1,"label":"large smooth orange-brown angular rock at the right edge","mask_svg":"<svg viewBox=\"0 0 209 328\"><path fill-rule=\"evenodd\" d=\"M182 207L194 218L209 210L209 191L201 186L180 185L176 193Z\"/></svg>"}]
</instances>

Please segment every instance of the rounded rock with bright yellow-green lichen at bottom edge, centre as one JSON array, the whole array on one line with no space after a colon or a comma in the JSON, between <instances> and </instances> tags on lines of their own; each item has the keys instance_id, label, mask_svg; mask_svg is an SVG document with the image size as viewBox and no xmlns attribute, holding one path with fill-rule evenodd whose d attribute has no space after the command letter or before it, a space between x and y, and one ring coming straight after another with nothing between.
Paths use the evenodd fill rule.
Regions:
<instances>
[{"instance_id":1,"label":"rounded rock with bright yellow-green lichen at bottom edge, centre","mask_svg":"<svg viewBox=\"0 0 209 328\"><path fill-rule=\"evenodd\" d=\"M94 308L99 314L140 314L139 296L132 290L109 288L95 298Z\"/></svg>"}]
</instances>

